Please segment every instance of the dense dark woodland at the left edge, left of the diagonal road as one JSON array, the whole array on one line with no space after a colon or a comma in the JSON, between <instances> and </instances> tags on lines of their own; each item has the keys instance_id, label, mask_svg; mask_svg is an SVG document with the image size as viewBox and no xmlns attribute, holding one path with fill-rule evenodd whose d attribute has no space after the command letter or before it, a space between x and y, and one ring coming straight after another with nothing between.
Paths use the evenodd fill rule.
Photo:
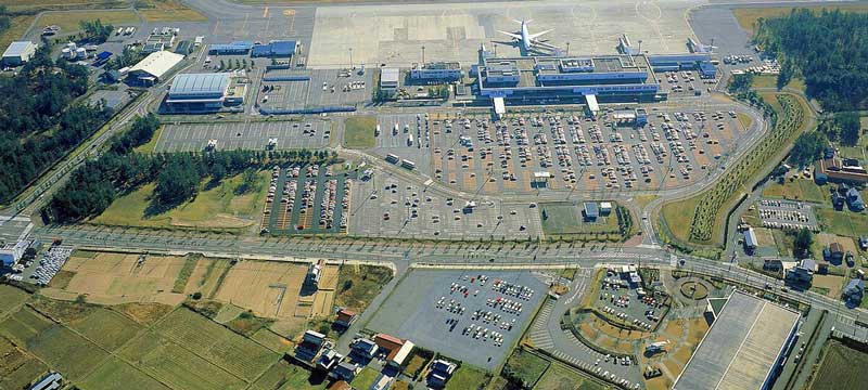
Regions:
<instances>
[{"instance_id":1,"label":"dense dark woodland at the left edge, left of the diagonal road","mask_svg":"<svg viewBox=\"0 0 868 390\"><path fill-rule=\"evenodd\" d=\"M113 112L75 102L88 91L84 66L54 62L40 48L17 75L0 78L0 203L99 129Z\"/></svg>"}]
</instances>

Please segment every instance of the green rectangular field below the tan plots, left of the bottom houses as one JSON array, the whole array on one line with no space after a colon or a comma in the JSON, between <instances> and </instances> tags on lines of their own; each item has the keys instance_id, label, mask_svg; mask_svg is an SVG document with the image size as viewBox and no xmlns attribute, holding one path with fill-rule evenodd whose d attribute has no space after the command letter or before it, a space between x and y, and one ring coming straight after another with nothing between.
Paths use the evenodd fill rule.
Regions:
<instances>
[{"instance_id":1,"label":"green rectangular field below the tan plots, left of the bottom houses","mask_svg":"<svg viewBox=\"0 0 868 390\"><path fill-rule=\"evenodd\" d=\"M183 308L171 312L152 329L248 381L278 360L265 347Z\"/></svg>"}]
</instances>

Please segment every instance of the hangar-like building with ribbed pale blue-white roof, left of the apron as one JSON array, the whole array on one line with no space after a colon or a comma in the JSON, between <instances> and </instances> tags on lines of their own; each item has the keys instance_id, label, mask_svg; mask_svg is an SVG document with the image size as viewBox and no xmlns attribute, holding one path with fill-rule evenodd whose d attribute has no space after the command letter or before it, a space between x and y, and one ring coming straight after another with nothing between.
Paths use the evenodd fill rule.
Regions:
<instances>
[{"instance_id":1,"label":"hangar-like building with ribbed pale blue-white roof, left of the apron","mask_svg":"<svg viewBox=\"0 0 868 390\"><path fill-rule=\"evenodd\" d=\"M173 80L165 103L173 113L215 112L244 103L245 93L245 86L232 82L228 73L181 74Z\"/></svg>"}]
</instances>

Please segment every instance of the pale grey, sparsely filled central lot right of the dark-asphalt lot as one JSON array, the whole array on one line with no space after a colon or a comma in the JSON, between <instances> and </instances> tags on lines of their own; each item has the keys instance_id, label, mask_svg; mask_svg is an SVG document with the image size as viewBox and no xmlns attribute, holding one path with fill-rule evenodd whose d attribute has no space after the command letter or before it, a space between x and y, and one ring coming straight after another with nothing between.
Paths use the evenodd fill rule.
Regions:
<instances>
[{"instance_id":1,"label":"pale grey, sparsely filled central lot right of the dark-asphalt lot","mask_svg":"<svg viewBox=\"0 0 868 390\"><path fill-rule=\"evenodd\" d=\"M356 236L439 239L537 237L539 212L528 204L474 203L426 191L375 171L353 186L349 233ZM471 206L471 207L468 207Z\"/></svg>"}]
</instances>

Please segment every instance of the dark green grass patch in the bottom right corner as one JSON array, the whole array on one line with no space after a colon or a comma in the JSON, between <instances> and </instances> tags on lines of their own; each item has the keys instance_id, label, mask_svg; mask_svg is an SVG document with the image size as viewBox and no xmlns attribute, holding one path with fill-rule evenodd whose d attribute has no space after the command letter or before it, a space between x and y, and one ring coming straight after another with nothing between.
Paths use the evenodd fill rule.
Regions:
<instances>
[{"instance_id":1,"label":"dark green grass patch in the bottom right corner","mask_svg":"<svg viewBox=\"0 0 868 390\"><path fill-rule=\"evenodd\" d=\"M829 340L826 354L810 381L810 390L861 389L865 367L868 367L868 353Z\"/></svg>"}]
</instances>

